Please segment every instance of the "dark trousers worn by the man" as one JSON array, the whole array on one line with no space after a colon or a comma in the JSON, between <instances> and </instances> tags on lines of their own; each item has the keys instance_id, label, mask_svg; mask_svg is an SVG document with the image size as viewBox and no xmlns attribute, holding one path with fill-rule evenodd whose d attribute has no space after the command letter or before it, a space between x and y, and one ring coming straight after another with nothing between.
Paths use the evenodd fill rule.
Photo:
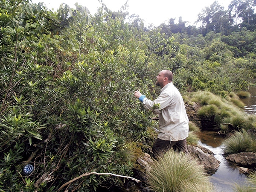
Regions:
<instances>
[{"instance_id":1,"label":"dark trousers worn by the man","mask_svg":"<svg viewBox=\"0 0 256 192\"><path fill-rule=\"evenodd\" d=\"M165 154L171 148L177 152L183 151L184 153L189 153L186 147L186 139L180 141L166 141L157 138L152 147L153 157L157 159L157 156Z\"/></svg>"}]
</instances>

